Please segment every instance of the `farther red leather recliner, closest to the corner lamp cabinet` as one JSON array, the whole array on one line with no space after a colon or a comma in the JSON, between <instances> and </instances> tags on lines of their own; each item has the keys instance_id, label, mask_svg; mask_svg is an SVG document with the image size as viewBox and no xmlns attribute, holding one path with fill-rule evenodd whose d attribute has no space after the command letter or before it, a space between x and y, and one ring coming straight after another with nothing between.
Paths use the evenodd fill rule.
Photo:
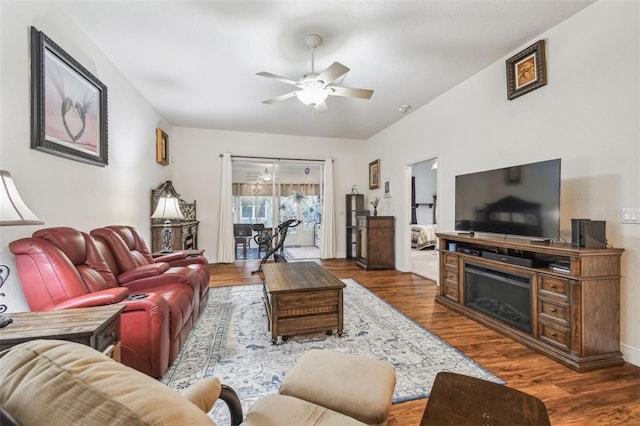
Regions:
<instances>
[{"instance_id":1,"label":"farther red leather recliner, closest to the corner lamp cabinet","mask_svg":"<svg viewBox=\"0 0 640 426\"><path fill-rule=\"evenodd\" d=\"M173 267L187 267L198 276L194 290L198 291L198 306L194 308L196 320L209 300L209 262L204 256L187 256L183 251L175 251L157 258L151 252L140 232L133 226L111 225L91 231L99 244L104 245L113 256L118 273L135 270L141 266L168 263ZM103 250L104 251L104 250ZM108 256L108 255L107 255ZM107 257L105 256L105 257ZM107 261L109 259L107 258ZM174 272L179 272L173 270ZM114 271L115 272L115 271ZM117 274L116 274L117 275Z\"/></svg>"}]
</instances>

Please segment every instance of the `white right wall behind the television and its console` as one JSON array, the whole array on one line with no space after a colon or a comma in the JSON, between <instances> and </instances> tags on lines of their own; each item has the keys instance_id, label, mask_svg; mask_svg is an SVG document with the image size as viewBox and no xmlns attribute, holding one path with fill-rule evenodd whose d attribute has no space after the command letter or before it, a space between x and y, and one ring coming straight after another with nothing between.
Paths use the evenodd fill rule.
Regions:
<instances>
[{"instance_id":1,"label":"white right wall behind the television and its console","mask_svg":"<svg viewBox=\"0 0 640 426\"><path fill-rule=\"evenodd\" d=\"M546 86L508 101L507 55L373 137L369 151L384 176L405 182L406 202L385 205L383 214L396 217L407 217L406 165L438 157L438 227L445 232L454 229L456 175L561 158L562 236L570 241L572 217L606 220L609 243L626 249L621 340L636 365L640 226L621 224L620 211L640 208L639 9L639 2L595 3L531 40L546 42ZM408 225L397 223L396 266L407 270Z\"/></svg>"}]
</instances>

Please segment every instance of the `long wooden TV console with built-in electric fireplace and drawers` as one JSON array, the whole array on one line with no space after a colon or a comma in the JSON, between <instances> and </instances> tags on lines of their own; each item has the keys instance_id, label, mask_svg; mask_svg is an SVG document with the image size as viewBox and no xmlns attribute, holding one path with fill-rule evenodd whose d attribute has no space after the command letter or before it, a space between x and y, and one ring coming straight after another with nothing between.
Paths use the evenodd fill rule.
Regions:
<instances>
[{"instance_id":1,"label":"long wooden TV console with built-in electric fireplace and drawers","mask_svg":"<svg viewBox=\"0 0 640 426\"><path fill-rule=\"evenodd\" d=\"M620 352L623 249L437 235L441 283L437 302L577 371L624 363ZM448 250L449 243L456 243L456 251ZM553 266L557 264L566 265L566 270ZM528 283L528 327L514 326L508 318L474 307L470 289L472 271L477 268L485 276L497 276L496 280L514 276Z\"/></svg>"}]
</instances>

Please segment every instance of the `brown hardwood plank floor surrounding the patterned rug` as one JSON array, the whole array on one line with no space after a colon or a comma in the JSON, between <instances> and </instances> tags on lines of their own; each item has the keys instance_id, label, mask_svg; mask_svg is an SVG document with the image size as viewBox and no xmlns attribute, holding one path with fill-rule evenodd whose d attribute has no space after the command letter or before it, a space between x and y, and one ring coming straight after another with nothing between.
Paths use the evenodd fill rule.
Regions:
<instances>
[{"instance_id":1,"label":"brown hardwood plank floor surrounding the patterned rug","mask_svg":"<svg viewBox=\"0 0 640 426\"><path fill-rule=\"evenodd\" d=\"M507 386L540 398L553 425L640 425L640 367L627 363L576 373L436 303L432 281L398 271L364 271L349 260L318 263L338 278L358 281ZM211 286L261 283L260 274L251 273L257 267L257 261L213 264ZM426 403L421 399L394 404L388 425L418 425Z\"/></svg>"}]
</instances>

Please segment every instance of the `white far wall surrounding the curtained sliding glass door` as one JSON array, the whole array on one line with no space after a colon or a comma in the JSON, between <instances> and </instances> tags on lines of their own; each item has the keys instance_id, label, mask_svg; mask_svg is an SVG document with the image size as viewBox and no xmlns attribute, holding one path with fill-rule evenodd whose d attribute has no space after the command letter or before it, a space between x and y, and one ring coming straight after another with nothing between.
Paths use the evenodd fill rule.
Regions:
<instances>
[{"instance_id":1,"label":"white far wall surrounding the curtained sliding glass door","mask_svg":"<svg viewBox=\"0 0 640 426\"><path fill-rule=\"evenodd\" d=\"M352 185L361 193L368 188L368 161L363 157L367 142L260 133L229 132L175 127L173 129L173 183L182 199L197 201L200 221L198 246L210 262L218 258L220 217L220 154L255 157L332 158L336 212L336 256L345 257L345 194Z\"/></svg>"}]
</instances>

